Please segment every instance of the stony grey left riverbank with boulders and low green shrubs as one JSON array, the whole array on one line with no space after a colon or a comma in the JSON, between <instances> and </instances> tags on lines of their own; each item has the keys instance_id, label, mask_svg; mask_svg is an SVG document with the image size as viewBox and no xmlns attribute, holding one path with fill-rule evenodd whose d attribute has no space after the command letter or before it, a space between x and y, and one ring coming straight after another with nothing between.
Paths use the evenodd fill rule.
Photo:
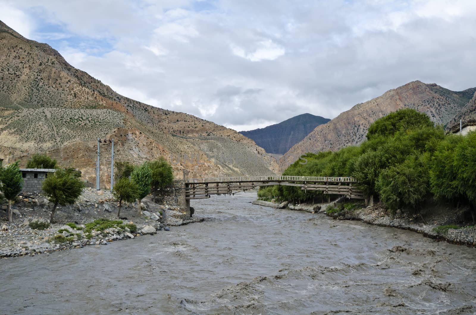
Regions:
<instances>
[{"instance_id":1,"label":"stony grey left riverbank with boulders and low green shrubs","mask_svg":"<svg viewBox=\"0 0 476 315\"><path fill-rule=\"evenodd\" d=\"M58 208L55 213L58 223L49 224L51 208L52 204L40 194L20 196L12 206L14 218L9 223L3 205L0 258L35 256L88 245L103 246L169 231L169 226L203 220L188 218L180 209L158 205L149 197L142 200L140 215L137 203L125 203L118 218L118 202L110 192L90 188L83 190L74 205Z\"/></svg>"}]
</instances>

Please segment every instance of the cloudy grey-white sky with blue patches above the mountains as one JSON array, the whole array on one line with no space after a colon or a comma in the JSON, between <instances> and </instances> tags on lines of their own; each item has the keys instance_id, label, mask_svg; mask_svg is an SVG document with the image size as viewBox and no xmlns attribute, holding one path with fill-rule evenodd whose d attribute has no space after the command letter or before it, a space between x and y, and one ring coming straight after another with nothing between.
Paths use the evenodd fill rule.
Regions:
<instances>
[{"instance_id":1,"label":"cloudy grey-white sky with blue patches above the mountains","mask_svg":"<svg viewBox=\"0 0 476 315\"><path fill-rule=\"evenodd\" d=\"M475 0L0 0L0 20L120 94L238 131L417 79L475 87L475 17Z\"/></svg>"}]
</instances>

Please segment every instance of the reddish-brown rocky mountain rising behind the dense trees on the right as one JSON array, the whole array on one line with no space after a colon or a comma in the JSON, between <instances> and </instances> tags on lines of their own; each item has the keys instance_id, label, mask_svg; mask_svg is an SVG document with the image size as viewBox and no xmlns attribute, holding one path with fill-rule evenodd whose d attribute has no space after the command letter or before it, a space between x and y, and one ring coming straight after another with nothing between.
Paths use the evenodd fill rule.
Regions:
<instances>
[{"instance_id":1,"label":"reddish-brown rocky mountain rising behind the dense trees on the right","mask_svg":"<svg viewBox=\"0 0 476 315\"><path fill-rule=\"evenodd\" d=\"M327 124L317 126L281 157L280 170L285 170L307 152L336 151L362 142L372 122L400 108L415 108L426 113L436 124L446 127L468 104L475 91L476 88L455 92L420 81L391 89L377 98L355 105Z\"/></svg>"}]
</instances>

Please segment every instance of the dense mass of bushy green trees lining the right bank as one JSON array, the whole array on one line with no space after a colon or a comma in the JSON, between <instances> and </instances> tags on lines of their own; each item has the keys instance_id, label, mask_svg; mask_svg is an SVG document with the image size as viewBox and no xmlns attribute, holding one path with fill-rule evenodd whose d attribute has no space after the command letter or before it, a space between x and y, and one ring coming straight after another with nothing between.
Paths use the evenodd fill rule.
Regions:
<instances>
[{"instance_id":1,"label":"dense mass of bushy green trees lining the right bank","mask_svg":"<svg viewBox=\"0 0 476 315\"><path fill-rule=\"evenodd\" d=\"M392 214L397 209L415 215L429 198L469 206L475 223L476 132L445 134L430 118L405 108L378 119L359 146L337 152L307 153L307 164L296 161L283 175L351 176L369 198L377 197ZM300 187L262 187L258 197L321 200L320 191Z\"/></svg>"}]
</instances>

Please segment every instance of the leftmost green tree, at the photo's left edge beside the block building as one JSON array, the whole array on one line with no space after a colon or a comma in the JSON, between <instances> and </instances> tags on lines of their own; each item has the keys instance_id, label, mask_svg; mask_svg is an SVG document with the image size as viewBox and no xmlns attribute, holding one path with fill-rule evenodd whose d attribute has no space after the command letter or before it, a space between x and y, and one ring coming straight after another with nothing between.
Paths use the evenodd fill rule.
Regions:
<instances>
[{"instance_id":1,"label":"leftmost green tree, at the photo's left edge beside the block building","mask_svg":"<svg viewBox=\"0 0 476 315\"><path fill-rule=\"evenodd\" d=\"M11 202L15 200L23 188L23 178L21 177L18 161L5 167L0 172L0 190L8 200L8 221L13 221L11 212Z\"/></svg>"}]
</instances>

